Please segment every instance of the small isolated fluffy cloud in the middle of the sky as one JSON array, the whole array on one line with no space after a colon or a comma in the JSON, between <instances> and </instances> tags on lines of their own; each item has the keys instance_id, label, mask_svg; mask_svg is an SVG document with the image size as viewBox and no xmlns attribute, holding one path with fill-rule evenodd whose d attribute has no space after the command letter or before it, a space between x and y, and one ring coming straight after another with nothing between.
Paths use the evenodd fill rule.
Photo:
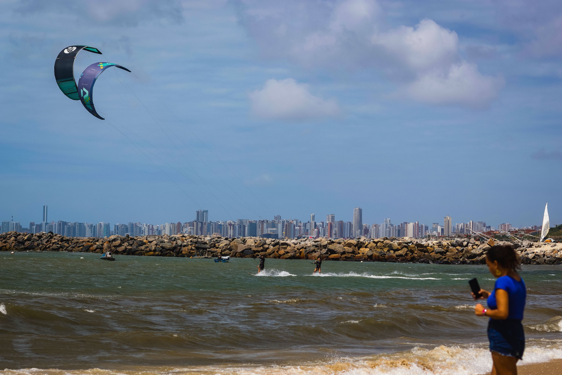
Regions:
<instances>
[{"instance_id":1,"label":"small isolated fluffy cloud in the middle of the sky","mask_svg":"<svg viewBox=\"0 0 562 375\"><path fill-rule=\"evenodd\" d=\"M250 93L252 113L268 120L312 120L339 114L334 100L314 96L309 85L292 78L269 79L262 89Z\"/></svg>"}]
</instances>

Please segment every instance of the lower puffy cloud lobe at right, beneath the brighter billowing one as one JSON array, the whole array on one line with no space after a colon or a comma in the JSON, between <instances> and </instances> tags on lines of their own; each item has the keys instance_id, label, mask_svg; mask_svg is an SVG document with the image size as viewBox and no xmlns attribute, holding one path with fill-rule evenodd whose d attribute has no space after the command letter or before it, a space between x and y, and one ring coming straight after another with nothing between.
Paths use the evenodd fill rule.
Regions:
<instances>
[{"instance_id":1,"label":"lower puffy cloud lobe at right, beneath the brighter billowing one","mask_svg":"<svg viewBox=\"0 0 562 375\"><path fill-rule=\"evenodd\" d=\"M420 75L407 87L407 93L422 103L484 109L503 86L501 76L484 76L475 64L463 61L445 72L435 70Z\"/></svg>"}]
</instances>

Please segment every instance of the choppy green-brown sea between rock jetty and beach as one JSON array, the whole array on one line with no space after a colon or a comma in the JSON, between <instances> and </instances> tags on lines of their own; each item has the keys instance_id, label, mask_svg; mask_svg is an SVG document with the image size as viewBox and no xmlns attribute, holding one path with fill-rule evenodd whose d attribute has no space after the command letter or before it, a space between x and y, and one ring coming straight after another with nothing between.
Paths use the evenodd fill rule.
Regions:
<instances>
[{"instance_id":1,"label":"choppy green-brown sea between rock jetty and beach","mask_svg":"<svg viewBox=\"0 0 562 375\"><path fill-rule=\"evenodd\" d=\"M0 373L482 374L486 266L0 252ZM562 266L525 266L524 363L562 358ZM4 369L1 371L1 369Z\"/></svg>"}]
</instances>

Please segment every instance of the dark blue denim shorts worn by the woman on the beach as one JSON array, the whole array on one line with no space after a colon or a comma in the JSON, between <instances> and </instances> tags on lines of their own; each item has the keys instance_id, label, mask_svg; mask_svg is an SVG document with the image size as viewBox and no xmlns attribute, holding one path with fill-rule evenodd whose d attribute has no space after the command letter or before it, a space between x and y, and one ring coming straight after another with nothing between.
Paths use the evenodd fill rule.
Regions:
<instances>
[{"instance_id":1,"label":"dark blue denim shorts worn by the woman on the beach","mask_svg":"<svg viewBox=\"0 0 562 375\"><path fill-rule=\"evenodd\" d=\"M523 358L525 333L521 320L490 319L488 322L488 340L490 340L490 351L519 359Z\"/></svg>"}]
</instances>

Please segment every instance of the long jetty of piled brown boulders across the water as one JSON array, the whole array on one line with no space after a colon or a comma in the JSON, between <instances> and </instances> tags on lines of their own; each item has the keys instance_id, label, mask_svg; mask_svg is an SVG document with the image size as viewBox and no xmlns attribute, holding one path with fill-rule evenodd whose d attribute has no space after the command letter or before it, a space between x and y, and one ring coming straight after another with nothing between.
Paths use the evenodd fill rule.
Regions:
<instances>
[{"instance_id":1,"label":"long jetty of piled brown boulders across the water","mask_svg":"<svg viewBox=\"0 0 562 375\"><path fill-rule=\"evenodd\" d=\"M562 243L512 243L523 264L561 264ZM327 238L272 240L261 237L226 238L220 236L111 236L76 238L60 234L0 234L0 251L104 252L117 255L255 257L278 259L316 259L347 261L415 262L437 264L484 264L490 246L475 238L427 240L416 238Z\"/></svg>"}]
</instances>

